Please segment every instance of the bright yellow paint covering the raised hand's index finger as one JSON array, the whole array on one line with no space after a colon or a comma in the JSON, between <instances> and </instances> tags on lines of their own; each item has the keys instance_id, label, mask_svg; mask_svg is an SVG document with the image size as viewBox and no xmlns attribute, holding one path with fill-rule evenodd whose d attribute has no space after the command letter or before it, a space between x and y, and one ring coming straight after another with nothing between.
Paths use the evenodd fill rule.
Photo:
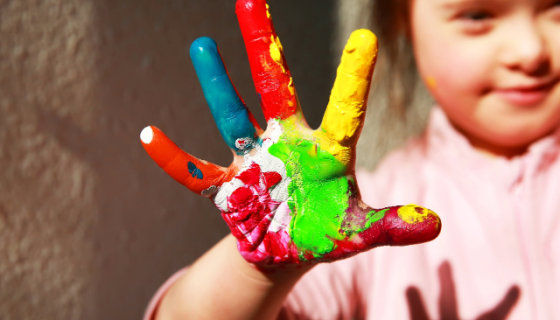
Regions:
<instances>
[{"instance_id":1,"label":"bright yellow paint covering the raised hand's index finger","mask_svg":"<svg viewBox=\"0 0 560 320\"><path fill-rule=\"evenodd\" d=\"M340 154L347 158L348 147L357 142L376 58L377 37L369 30L354 31L342 53L329 104L321 123L321 136L331 140L324 141L325 146L321 145L321 148L333 150L335 157Z\"/></svg>"}]
</instances>

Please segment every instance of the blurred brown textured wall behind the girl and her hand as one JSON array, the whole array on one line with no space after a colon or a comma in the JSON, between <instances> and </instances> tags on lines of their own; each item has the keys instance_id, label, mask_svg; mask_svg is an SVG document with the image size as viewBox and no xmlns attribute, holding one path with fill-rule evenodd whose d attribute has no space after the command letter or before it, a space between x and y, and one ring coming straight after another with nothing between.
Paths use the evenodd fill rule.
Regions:
<instances>
[{"instance_id":1,"label":"blurred brown textured wall behind the girl and her hand","mask_svg":"<svg viewBox=\"0 0 560 320\"><path fill-rule=\"evenodd\" d=\"M268 0L312 127L371 1ZM139 142L155 125L229 165L188 57L201 36L216 40L264 126L234 0L0 0L2 319L139 319L171 274L228 232ZM358 147L368 169L422 130L432 104L418 85L413 107L391 112L382 74Z\"/></svg>"}]
</instances>

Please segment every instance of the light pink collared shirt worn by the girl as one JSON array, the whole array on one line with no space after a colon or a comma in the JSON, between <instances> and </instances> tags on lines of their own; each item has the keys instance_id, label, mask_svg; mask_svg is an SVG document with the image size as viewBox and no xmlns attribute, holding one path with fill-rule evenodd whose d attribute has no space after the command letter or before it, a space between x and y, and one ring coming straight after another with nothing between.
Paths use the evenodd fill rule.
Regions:
<instances>
[{"instance_id":1,"label":"light pink collared shirt worn by the girl","mask_svg":"<svg viewBox=\"0 0 560 320\"><path fill-rule=\"evenodd\" d=\"M560 319L560 130L511 160L475 151L434 108L425 134L358 172L366 203L415 203L442 220L426 244L322 264L288 319ZM154 297L157 305L168 281Z\"/></svg>"}]
</instances>

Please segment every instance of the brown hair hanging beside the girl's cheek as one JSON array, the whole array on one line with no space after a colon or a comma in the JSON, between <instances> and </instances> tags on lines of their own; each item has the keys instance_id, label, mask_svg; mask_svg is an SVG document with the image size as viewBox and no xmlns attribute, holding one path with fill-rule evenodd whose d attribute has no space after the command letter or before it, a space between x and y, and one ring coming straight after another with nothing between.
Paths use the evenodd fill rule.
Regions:
<instances>
[{"instance_id":1,"label":"brown hair hanging beside the girl's cheek","mask_svg":"<svg viewBox=\"0 0 560 320\"><path fill-rule=\"evenodd\" d=\"M383 82L388 103L404 116L418 82L409 27L410 0L373 0L373 29L384 56Z\"/></svg>"}]
</instances>

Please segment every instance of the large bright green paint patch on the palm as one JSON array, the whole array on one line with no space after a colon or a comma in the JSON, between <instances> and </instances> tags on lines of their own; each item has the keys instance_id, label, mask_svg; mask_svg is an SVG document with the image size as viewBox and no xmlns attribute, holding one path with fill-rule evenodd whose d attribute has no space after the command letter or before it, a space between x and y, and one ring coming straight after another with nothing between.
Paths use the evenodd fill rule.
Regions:
<instances>
[{"instance_id":1,"label":"large bright green paint patch on the palm","mask_svg":"<svg viewBox=\"0 0 560 320\"><path fill-rule=\"evenodd\" d=\"M332 251L332 239L345 238L340 230L350 196L346 166L306 140L281 140L268 151L284 162L292 179L288 187L292 240L315 256Z\"/></svg>"}]
</instances>

